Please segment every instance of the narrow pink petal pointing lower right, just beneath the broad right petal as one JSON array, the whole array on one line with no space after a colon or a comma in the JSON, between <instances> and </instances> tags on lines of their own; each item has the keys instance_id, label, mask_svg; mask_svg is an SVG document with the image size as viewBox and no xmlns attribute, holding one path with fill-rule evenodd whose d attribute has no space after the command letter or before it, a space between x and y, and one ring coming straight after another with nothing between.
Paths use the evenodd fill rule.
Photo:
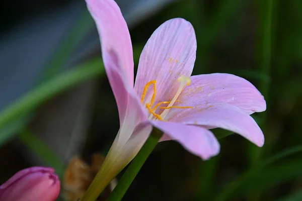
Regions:
<instances>
[{"instance_id":1,"label":"narrow pink petal pointing lower right, just beneath the broad right petal","mask_svg":"<svg viewBox=\"0 0 302 201\"><path fill-rule=\"evenodd\" d=\"M186 109L170 121L219 127L238 133L259 147L264 144L263 133L255 120L243 110L230 104L201 105L194 109Z\"/></svg>"}]
</instances>

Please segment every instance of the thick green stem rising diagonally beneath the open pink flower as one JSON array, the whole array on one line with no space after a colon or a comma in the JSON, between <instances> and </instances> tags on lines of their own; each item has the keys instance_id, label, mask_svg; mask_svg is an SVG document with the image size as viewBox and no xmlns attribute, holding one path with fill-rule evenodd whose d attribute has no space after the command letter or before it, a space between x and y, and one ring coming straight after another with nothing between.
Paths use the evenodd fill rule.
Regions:
<instances>
[{"instance_id":1,"label":"thick green stem rising diagonally beneath the open pink flower","mask_svg":"<svg viewBox=\"0 0 302 201\"><path fill-rule=\"evenodd\" d=\"M107 201L119 201L122 199L130 184L137 175L138 171L140 170L150 153L156 147L161 137L162 133L153 133L152 135L150 135L150 137L144 143L140 151L137 153L137 155L123 174L122 178L110 194Z\"/></svg>"}]
</instances>

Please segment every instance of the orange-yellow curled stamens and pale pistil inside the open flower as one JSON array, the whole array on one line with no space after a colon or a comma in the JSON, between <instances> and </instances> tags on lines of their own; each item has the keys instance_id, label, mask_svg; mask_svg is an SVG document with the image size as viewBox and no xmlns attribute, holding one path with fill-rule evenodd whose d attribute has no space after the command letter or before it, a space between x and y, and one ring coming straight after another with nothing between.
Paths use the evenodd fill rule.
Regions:
<instances>
[{"instance_id":1,"label":"orange-yellow curled stamens and pale pistil inside the open flower","mask_svg":"<svg viewBox=\"0 0 302 201\"><path fill-rule=\"evenodd\" d=\"M150 85L153 84L153 95L152 98L150 100L150 102L146 103L146 109L148 110L150 116L149 119L153 119L153 120L161 120L161 121L165 121L165 117L168 115L169 110L171 108L180 108L180 109L186 109L186 108L193 108L191 106L173 106L175 103L179 102L179 100L177 100L178 96L180 95L180 93L184 90L184 88L186 87L186 85L190 85L191 83L191 79L190 77L185 77L185 76L180 76L177 81L180 82L180 85L174 95L174 97L172 98L171 101L163 101L158 103L157 105L155 105L153 108L152 106L154 105L154 101L155 101L155 97L156 97L156 83L157 80L151 80L149 81L143 88L142 91L142 95L141 95L141 104L143 104L143 100L146 96L147 90L149 88ZM166 107L160 107L162 104L168 104ZM158 109L158 107L160 107L160 109L165 109L164 111L162 111L160 114L156 114L155 111L156 109Z\"/></svg>"}]
</instances>

